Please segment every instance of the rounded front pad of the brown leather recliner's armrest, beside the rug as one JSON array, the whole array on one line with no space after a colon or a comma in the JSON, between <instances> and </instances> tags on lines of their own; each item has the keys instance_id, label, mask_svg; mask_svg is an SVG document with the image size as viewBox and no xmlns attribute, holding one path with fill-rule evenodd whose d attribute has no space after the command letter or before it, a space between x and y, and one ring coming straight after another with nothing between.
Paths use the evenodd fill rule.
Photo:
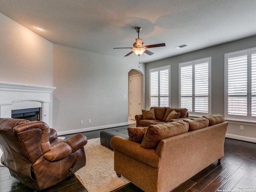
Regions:
<instances>
[{"instance_id":1,"label":"rounded front pad of the brown leather recliner's armrest, beside the rug","mask_svg":"<svg viewBox=\"0 0 256 192\"><path fill-rule=\"evenodd\" d=\"M82 134L78 133L75 134L74 136L68 138L65 143L69 144L72 148L72 153L75 152L76 150L80 149L81 147L85 146L87 143L87 137Z\"/></svg>"}]
</instances>

